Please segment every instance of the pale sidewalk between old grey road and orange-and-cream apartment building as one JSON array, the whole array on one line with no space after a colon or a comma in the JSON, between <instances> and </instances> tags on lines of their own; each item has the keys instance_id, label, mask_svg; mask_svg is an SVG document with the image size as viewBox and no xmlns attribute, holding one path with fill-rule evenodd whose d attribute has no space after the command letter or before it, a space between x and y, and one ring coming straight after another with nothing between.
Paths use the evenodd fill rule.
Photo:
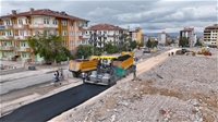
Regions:
<instances>
[{"instance_id":1,"label":"pale sidewalk between old grey road and orange-and-cream apartment building","mask_svg":"<svg viewBox=\"0 0 218 122\"><path fill-rule=\"evenodd\" d=\"M2 64L2 61L0 62ZM4 62L4 64L10 64L12 65L16 65L20 66L16 62ZM36 70L35 71L24 71L24 72L17 72L17 73L13 73L13 74L5 74L5 75L1 75L0 77L0 83L3 82L9 82L9 81L13 81L13 80L19 80L19 78L24 78L24 77L29 77L29 76L36 76L36 75L40 75L40 74L46 74L46 73L50 73L50 72L55 72L56 70L63 68L64 70L69 69L69 65L58 65L58 66L52 66L52 65L36 65Z\"/></svg>"}]
</instances>

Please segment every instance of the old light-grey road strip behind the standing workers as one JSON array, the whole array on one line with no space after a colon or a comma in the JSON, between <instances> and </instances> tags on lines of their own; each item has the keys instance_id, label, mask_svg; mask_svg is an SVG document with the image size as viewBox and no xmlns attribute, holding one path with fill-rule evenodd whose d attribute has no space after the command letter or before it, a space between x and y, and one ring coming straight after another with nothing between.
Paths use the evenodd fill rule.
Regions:
<instances>
[{"instance_id":1,"label":"old light-grey road strip behind the standing workers","mask_svg":"<svg viewBox=\"0 0 218 122\"><path fill-rule=\"evenodd\" d=\"M71 75L71 72L68 70L64 70L64 75L66 76L68 74ZM28 86L34 86L37 84L43 84L43 83L48 83L52 81L52 73L48 74L40 74L36 76L31 76L31 77L25 77L21 80L14 80L11 82L4 82L0 84L0 95L7 94L12 90L16 89L23 89Z\"/></svg>"}]
</instances>

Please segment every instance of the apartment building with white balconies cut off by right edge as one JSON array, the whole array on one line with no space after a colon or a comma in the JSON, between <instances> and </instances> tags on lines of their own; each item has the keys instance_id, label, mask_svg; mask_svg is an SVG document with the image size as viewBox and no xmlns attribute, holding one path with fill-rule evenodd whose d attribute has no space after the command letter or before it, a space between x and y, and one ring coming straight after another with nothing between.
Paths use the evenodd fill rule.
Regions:
<instances>
[{"instance_id":1,"label":"apartment building with white balconies cut off by right edge","mask_svg":"<svg viewBox=\"0 0 218 122\"><path fill-rule=\"evenodd\" d=\"M203 42L207 46L218 47L218 24L205 27Z\"/></svg>"}]
</instances>

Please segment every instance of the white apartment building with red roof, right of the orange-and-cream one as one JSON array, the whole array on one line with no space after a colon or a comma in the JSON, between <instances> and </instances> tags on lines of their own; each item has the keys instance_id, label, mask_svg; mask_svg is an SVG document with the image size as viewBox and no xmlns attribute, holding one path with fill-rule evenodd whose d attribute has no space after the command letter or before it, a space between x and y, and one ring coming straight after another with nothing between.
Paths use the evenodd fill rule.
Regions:
<instances>
[{"instance_id":1,"label":"white apartment building with red roof, right of the orange-and-cream one","mask_svg":"<svg viewBox=\"0 0 218 122\"><path fill-rule=\"evenodd\" d=\"M102 48L105 44L119 45L121 36L128 34L128 29L111 24L97 24L88 27L86 34L96 33L96 47Z\"/></svg>"}]
</instances>

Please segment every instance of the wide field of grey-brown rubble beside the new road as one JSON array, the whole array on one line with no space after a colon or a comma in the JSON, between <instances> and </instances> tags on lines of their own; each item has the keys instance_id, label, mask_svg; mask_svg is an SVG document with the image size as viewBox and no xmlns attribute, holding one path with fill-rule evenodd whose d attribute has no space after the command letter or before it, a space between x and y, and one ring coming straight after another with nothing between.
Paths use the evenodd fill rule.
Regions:
<instances>
[{"instance_id":1,"label":"wide field of grey-brown rubble beside the new road","mask_svg":"<svg viewBox=\"0 0 218 122\"><path fill-rule=\"evenodd\" d=\"M218 59L174 56L60 121L218 121ZM214 64L214 65L213 65ZM116 93L116 94L114 94ZM88 117L88 118L85 118Z\"/></svg>"}]
</instances>

